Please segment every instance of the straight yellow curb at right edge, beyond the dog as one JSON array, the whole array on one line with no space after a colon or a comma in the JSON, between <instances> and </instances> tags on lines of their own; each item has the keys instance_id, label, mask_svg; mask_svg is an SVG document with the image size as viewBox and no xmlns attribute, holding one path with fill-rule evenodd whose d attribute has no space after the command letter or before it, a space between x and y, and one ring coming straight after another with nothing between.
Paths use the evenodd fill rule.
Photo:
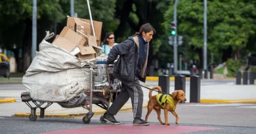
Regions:
<instances>
[{"instance_id":1,"label":"straight yellow curb at right edge, beyond the dog","mask_svg":"<svg viewBox=\"0 0 256 134\"><path fill-rule=\"evenodd\" d=\"M248 103L248 104L256 104L256 99L240 99L240 100L200 99L200 103Z\"/></svg>"}]
</instances>

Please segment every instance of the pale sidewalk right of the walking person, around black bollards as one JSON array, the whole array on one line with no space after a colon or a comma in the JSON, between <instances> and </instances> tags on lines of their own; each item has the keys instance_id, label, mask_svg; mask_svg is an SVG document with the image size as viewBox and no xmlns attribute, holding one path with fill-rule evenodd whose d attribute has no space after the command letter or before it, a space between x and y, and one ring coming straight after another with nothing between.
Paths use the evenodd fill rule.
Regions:
<instances>
[{"instance_id":1,"label":"pale sidewalk right of the walking person, around black bollards","mask_svg":"<svg viewBox=\"0 0 256 134\"><path fill-rule=\"evenodd\" d=\"M148 88L152 87L148 85ZM148 101L149 90L143 88L143 92L144 100ZM172 92L174 92L174 87L170 87L169 93ZM189 103L190 86L186 86L185 93L186 103ZM156 94L157 92L152 93L152 95ZM201 86L200 97L200 103L256 103L256 85L217 84Z\"/></svg>"}]
</instances>

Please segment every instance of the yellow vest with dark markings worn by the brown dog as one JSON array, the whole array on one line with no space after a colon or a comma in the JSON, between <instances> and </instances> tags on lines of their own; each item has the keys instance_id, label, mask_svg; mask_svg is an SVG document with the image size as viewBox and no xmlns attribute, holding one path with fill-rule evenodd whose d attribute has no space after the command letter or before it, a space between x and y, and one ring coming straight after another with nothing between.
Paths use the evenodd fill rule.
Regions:
<instances>
[{"instance_id":1,"label":"yellow vest with dark markings worn by the brown dog","mask_svg":"<svg viewBox=\"0 0 256 134\"><path fill-rule=\"evenodd\" d=\"M165 103L169 103L171 105L171 110L176 109L176 105L173 101L173 97L168 94L158 94L156 95L156 100L158 100L158 103L165 109Z\"/></svg>"}]
</instances>

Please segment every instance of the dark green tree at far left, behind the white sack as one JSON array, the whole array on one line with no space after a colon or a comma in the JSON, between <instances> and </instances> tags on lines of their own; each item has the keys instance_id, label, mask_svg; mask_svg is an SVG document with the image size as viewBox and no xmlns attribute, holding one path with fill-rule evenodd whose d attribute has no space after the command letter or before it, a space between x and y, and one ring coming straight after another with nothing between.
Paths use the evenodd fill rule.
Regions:
<instances>
[{"instance_id":1,"label":"dark green tree at far left, behind the white sack","mask_svg":"<svg viewBox=\"0 0 256 134\"><path fill-rule=\"evenodd\" d=\"M24 56L30 56L32 45L32 2L30 0L0 2L0 44L12 50L19 63L18 50L22 48ZM58 0L37 1L37 44L45 36L45 29L64 18ZM15 44L15 45L14 45ZM14 48L16 46L16 48ZM23 56L23 57L24 57ZM27 57L24 57L24 62ZM24 63L26 69L26 63Z\"/></svg>"}]
</instances>

